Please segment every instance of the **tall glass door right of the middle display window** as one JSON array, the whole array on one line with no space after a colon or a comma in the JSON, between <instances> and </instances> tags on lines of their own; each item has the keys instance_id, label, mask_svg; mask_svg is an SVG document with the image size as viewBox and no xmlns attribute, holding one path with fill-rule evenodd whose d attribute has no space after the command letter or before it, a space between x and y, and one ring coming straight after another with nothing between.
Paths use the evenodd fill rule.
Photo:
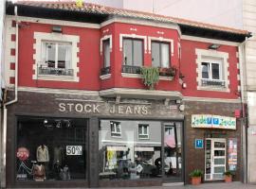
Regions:
<instances>
[{"instance_id":1,"label":"tall glass door right of the middle display window","mask_svg":"<svg viewBox=\"0 0 256 189\"><path fill-rule=\"evenodd\" d=\"M163 175L166 181L183 181L182 124L164 124Z\"/></svg>"}]
</instances>

